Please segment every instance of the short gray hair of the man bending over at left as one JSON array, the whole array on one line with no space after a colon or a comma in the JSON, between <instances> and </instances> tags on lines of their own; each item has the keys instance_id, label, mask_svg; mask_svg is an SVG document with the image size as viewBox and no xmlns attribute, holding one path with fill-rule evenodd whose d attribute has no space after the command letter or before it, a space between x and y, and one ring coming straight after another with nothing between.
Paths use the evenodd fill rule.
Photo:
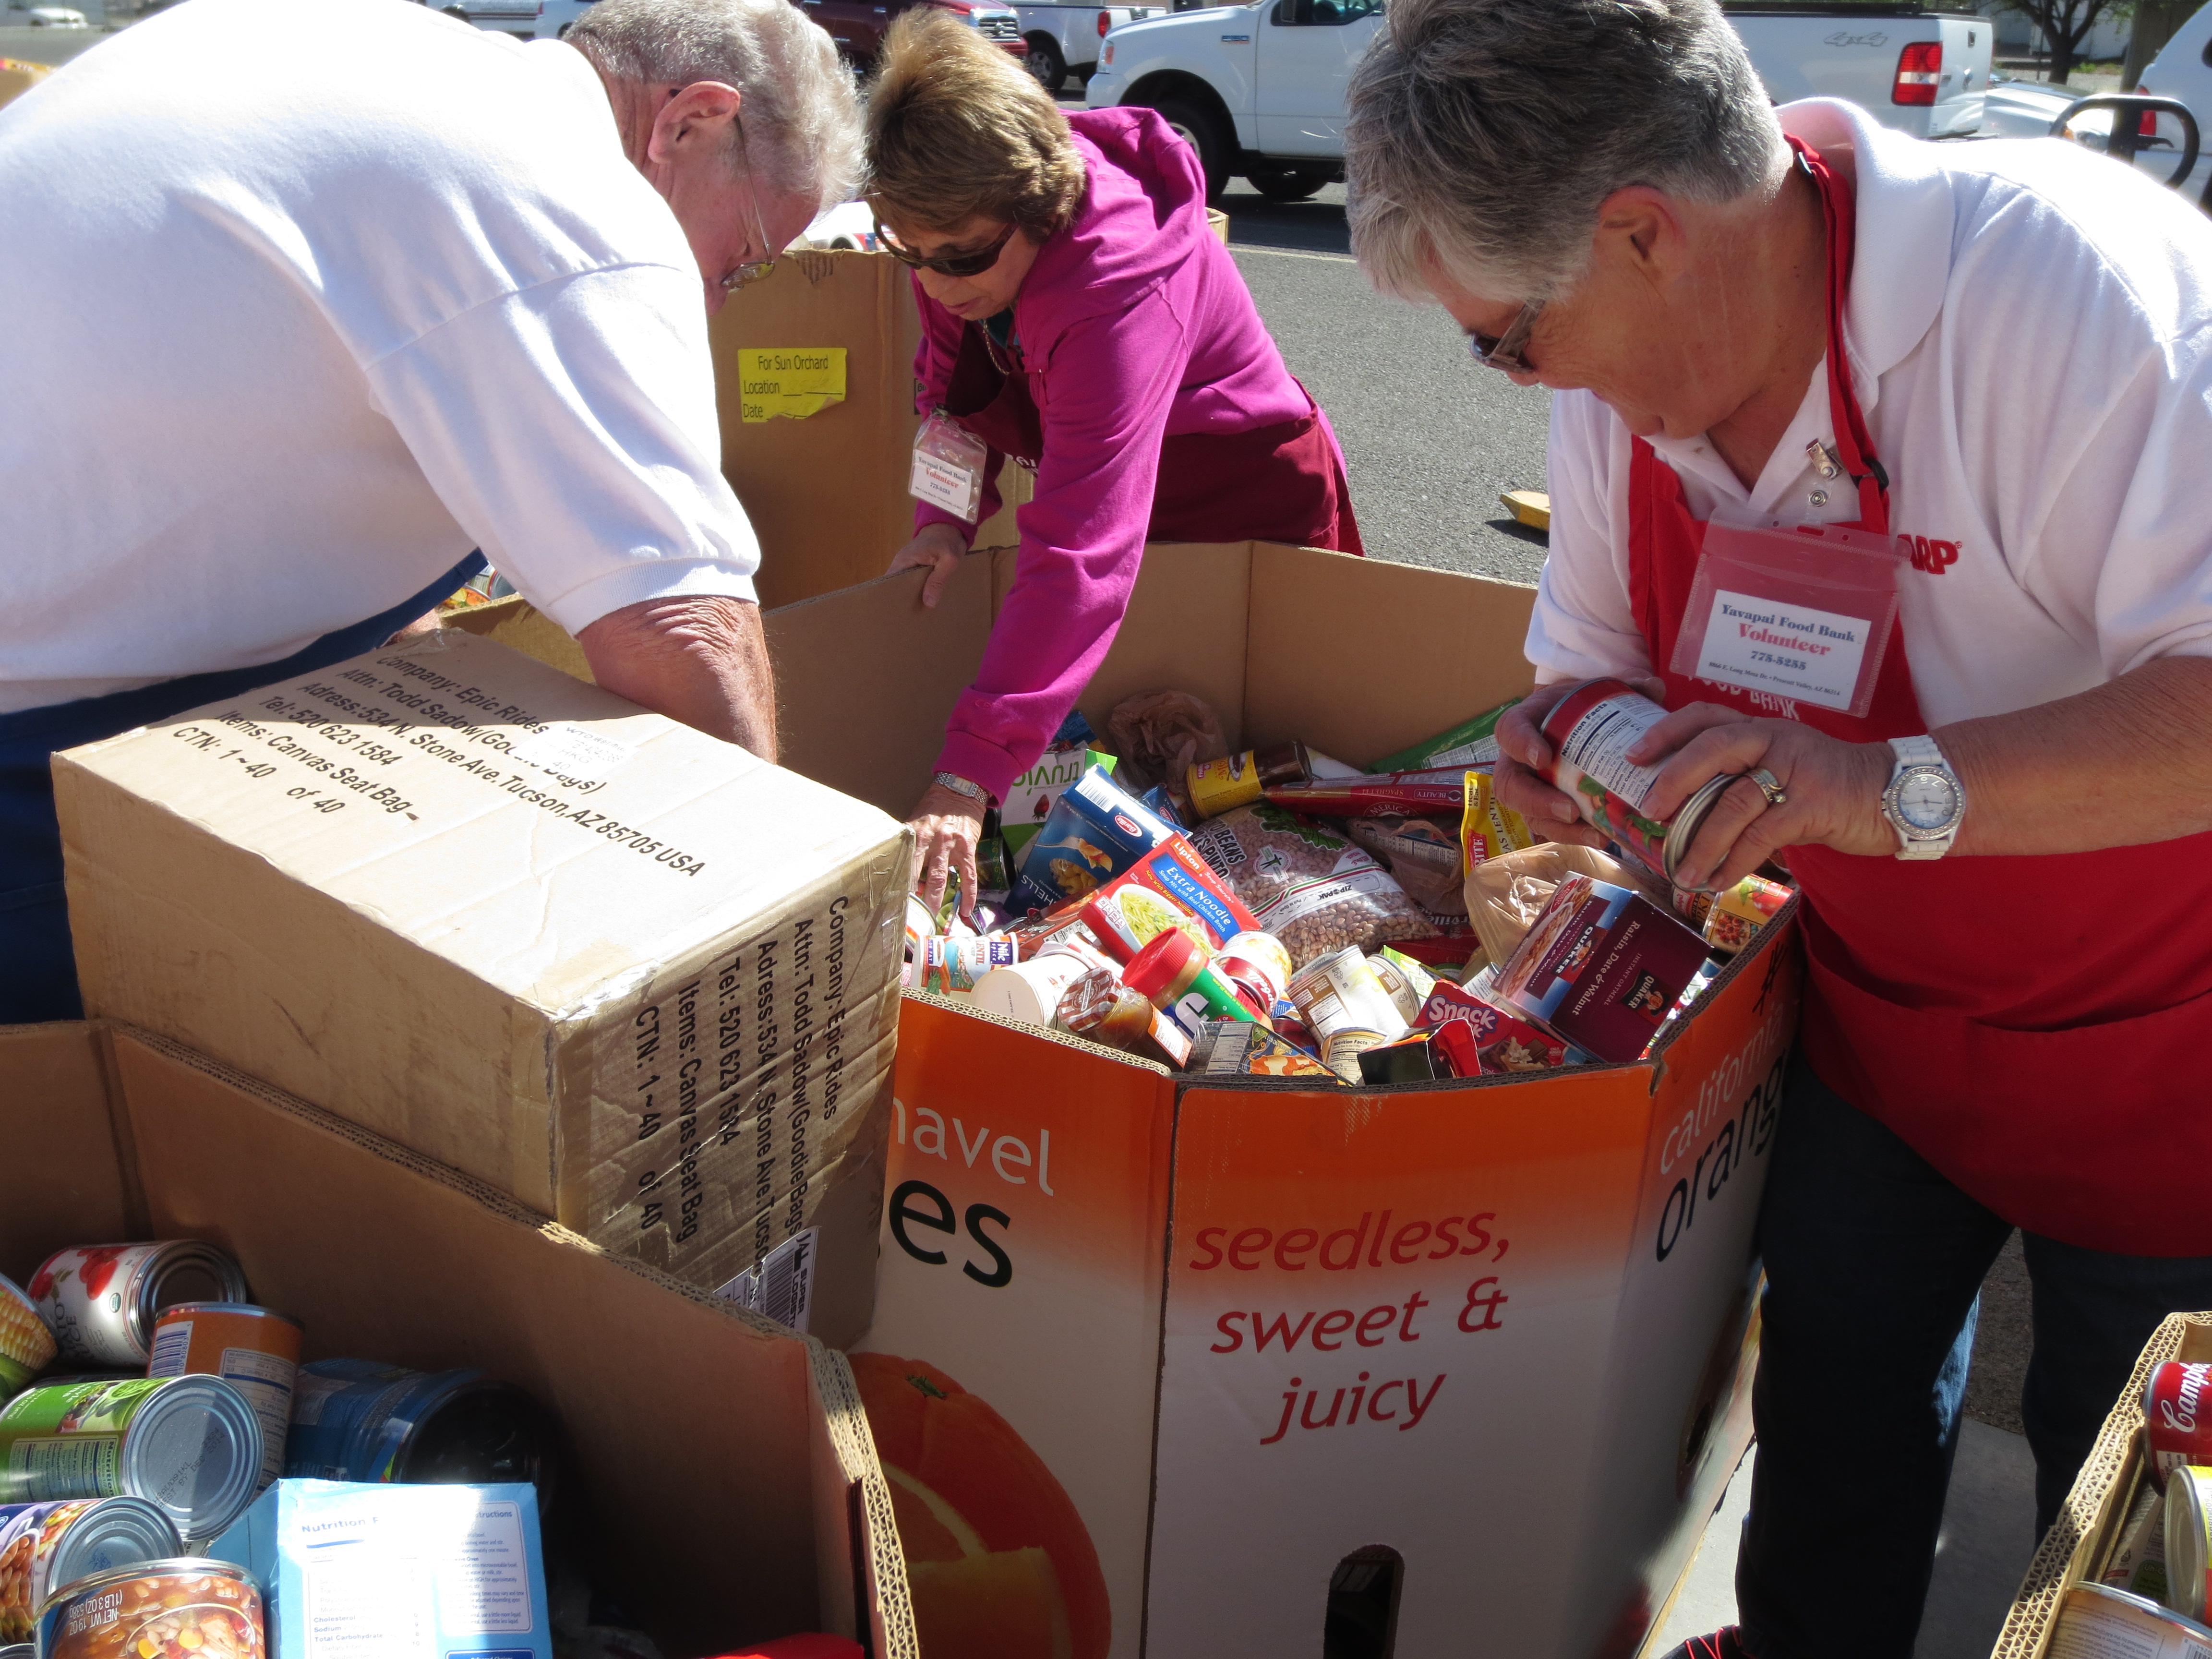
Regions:
<instances>
[{"instance_id":1,"label":"short gray hair of the man bending over at left","mask_svg":"<svg viewBox=\"0 0 2212 1659\"><path fill-rule=\"evenodd\" d=\"M732 159L759 168L772 190L818 210L860 186L852 71L792 0L597 0L568 44L617 80L737 86L748 153Z\"/></svg>"}]
</instances>

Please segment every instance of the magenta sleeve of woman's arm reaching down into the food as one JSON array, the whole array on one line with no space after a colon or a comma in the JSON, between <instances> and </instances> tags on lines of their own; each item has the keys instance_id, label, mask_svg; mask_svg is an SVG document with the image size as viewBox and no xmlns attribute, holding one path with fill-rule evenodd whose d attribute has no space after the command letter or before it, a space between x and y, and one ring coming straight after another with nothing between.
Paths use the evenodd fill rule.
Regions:
<instances>
[{"instance_id":1,"label":"magenta sleeve of woman's arm reaching down into the food","mask_svg":"<svg viewBox=\"0 0 2212 1659\"><path fill-rule=\"evenodd\" d=\"M1181 316L1155 288L1133 316L1071 325L1031 376L1046 431L1037 495L1015 513L1013 591L938 757L998 801L1035 765L1121 628L1186 356Z\"/></svg>"}]
</instances>

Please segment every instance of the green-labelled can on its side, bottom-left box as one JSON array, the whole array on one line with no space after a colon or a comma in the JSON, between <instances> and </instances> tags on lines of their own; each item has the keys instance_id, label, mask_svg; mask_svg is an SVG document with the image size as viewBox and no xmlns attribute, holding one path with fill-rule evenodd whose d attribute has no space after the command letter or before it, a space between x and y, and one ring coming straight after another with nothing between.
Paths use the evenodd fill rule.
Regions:
<instances>
[{"instance_id":1,"label":"green-labelled can on its side, bottom-left box","mask_svg":"<svg viewBox=\"0 0 2212 1659\"><path fill-rule=\"evenodd\" d=\"M146 1498L215 1537L254 1498L261 1418L217 1376L64 1383L0 1409L0 1498Z\"/></svg>"}]
</instances>

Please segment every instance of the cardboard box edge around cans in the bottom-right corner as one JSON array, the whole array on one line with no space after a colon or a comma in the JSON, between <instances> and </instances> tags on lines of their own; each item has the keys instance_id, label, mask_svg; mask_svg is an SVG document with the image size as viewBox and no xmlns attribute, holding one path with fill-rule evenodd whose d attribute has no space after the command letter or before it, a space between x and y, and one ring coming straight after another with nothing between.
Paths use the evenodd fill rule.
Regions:
<instances>
[{"instance_id":1,"label":"cardboard box edge around cans in the bottom-right corner","mask_svg":"<svg viewBox=\"0 0 2212 1659\"><path fill-rule=\"evenodd\" d=\"M2212 1314L2168 1314L2143 1343L2141 1358L2119 1391L2075 1475L2066 1506L2051 1522L2028 1562L2013 1610L1997 1632L1991 1659L2044 1659L2057 1630L2059 1606L2075 1584L2095 1584L2119 1542L2135 1493L2148 1480L2143 1455L2143 1385L2166 1360L2212 1360Z\"/></svg>"}]
</instances>

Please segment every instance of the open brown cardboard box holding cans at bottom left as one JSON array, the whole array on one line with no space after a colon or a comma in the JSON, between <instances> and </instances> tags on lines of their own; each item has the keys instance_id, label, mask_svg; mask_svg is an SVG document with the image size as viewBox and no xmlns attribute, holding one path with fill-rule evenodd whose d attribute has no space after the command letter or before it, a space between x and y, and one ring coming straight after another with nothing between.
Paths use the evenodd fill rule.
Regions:
<instances>
[{"instance_id":1,"label":"open brown cardboard box holding cans at bottom left","mask_svg":"<svg viewBox=\"0 0 2212 1659\"><path fill-rule=\"evenodd\" d=\"M0 1029L0 1274L206 1239L305 1356L476 1365L566 1433L549 1548L670 1659L799 1630L911 1659L891 1500L845 1360L188 1048Z\"/></svg>"}]
</instances>

